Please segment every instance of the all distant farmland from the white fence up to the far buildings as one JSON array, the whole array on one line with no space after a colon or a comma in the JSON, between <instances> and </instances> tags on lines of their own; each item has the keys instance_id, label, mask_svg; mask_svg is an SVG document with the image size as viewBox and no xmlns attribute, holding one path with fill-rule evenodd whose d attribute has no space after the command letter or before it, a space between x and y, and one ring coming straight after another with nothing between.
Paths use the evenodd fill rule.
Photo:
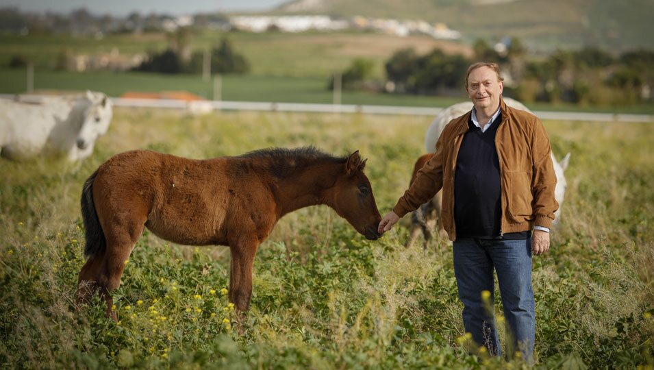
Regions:
<instances>
[{"instance_id":1,"label":"all distant farmland from the white fence up to the far buildings","mask_svg":"<svg viewBox=\"0 0 654 370\"><path fill-rule=\"evenodd\" d=\"M364 32L306 32L282 34L268 32L199 31L190 36L192 50L208 49L227 37L251 64L248 75L223 77L221 99L228 101L273 101L293 103L331 103L327 90L330 76L343 71L355 58L366 58L374 63L374 75L383 81L383 64L399 49L413 47L427 53L438 47L446 53L472 56L472 49L464 42L434 40L427 36L401 38ZM203 82L200 75L158 75L154 73L53 71L64 51L74 54L98 55L112 51L120 55L134 55L147 51L162 51L168 45L164 33L110 34L103 38L67 35L28 36L0 35L0 93L23 93L27 88L25 69L7 69L14 56L34 62L36 90L86 89L120 96L127 91L188 90L208 99L213 98L212 82ZM363 91L344 91L342 103L382 106L444 107L466 99L462 89L459 97L429 97L417 95L388 95ZM622 112L654 114L654 105L636 106L575 106L559 103L534 103L533 110L562 110L585 112Z\"/></svg>"}]
</instances>

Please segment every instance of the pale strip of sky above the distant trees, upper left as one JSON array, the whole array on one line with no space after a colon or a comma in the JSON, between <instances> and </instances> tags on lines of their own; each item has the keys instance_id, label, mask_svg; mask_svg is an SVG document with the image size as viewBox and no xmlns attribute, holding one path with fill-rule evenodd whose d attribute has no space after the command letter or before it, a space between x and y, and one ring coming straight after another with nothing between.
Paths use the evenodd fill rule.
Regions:
<instances>
[{"instance_id":1,"label":"pale strip of sky above the distant trees, upper left","mask_svg":"<svg viewBox=\"0 0 654 370\"><path fill-rule=\"evenodd\" d=\"M0 8L12 7L27 12L68 13L86 8L94 14L125 16L133 11L141 14L194 14L197 12L234 12L267 10L286 0L0 0Z\"/></svg>"}]
</instances>

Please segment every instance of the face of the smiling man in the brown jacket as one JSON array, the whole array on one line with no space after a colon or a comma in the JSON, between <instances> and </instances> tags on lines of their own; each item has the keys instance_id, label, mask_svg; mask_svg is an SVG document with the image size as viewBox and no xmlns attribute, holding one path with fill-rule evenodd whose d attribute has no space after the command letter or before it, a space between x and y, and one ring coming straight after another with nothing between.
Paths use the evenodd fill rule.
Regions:
<instances>
[{"instance_id":1,"label":"face of the smiling man in the brown jacket","mask_svg":"<svg viewBox=\"0 0 654 370\"><path fill-rule=\"evenodd\" d=\"M498 81L495 71L487 66L474 69L468 75L466 91L468 91L468 97L473 101L477 110L497 109L503 89L504 82Z\"/></svg>"}]
</instances>

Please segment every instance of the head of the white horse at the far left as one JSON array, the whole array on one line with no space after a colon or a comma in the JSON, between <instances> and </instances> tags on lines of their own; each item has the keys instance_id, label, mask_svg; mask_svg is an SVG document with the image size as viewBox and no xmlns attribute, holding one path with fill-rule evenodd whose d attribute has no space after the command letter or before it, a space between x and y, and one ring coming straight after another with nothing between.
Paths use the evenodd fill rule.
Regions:
<instances>
[{"instance_id":1,"label":"head of the white horse at the far left","mask_svg":"<svg viewBox=\"0 0 654 370\"><path fill-rule=\"evenodd\" d=\"M82 98L85 107L82 112L82 123L75 138L77 148L88 154L93 151L95 140L107 132L112 119L112 103L103 93L86 91Z\"/></svg>"}]
</instances>

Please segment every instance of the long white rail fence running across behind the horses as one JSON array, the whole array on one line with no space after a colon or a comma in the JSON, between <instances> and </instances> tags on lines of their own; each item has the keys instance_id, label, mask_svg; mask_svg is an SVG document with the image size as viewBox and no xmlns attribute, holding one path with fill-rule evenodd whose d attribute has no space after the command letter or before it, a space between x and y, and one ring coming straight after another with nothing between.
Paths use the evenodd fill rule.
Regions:
<instances>
[{"instance_id":1,"label":"long white rail fence running across behind the horses","mask_svg":"<svg viewBox=\"0 0 654 370\"><path fill-rule=\"evenodd\" d=\"M0 94L3 99L15 99L38 103L40 95ZM253 110L269 112L319 112L319 113L360 113L397 114L414 116L435 116L442 108L402 107L402 106L363 106L353 104L312 104L312 103L268 103L257 101L181 101L173 99L125 99L112 98L114 106L132 108L182 109L190 112L210 112L212 110ZM534 111L540 119L590 122L647 122L654 123L652 114L591 113L591 112L549 112Z\"/></svg>"}]
</instances>

